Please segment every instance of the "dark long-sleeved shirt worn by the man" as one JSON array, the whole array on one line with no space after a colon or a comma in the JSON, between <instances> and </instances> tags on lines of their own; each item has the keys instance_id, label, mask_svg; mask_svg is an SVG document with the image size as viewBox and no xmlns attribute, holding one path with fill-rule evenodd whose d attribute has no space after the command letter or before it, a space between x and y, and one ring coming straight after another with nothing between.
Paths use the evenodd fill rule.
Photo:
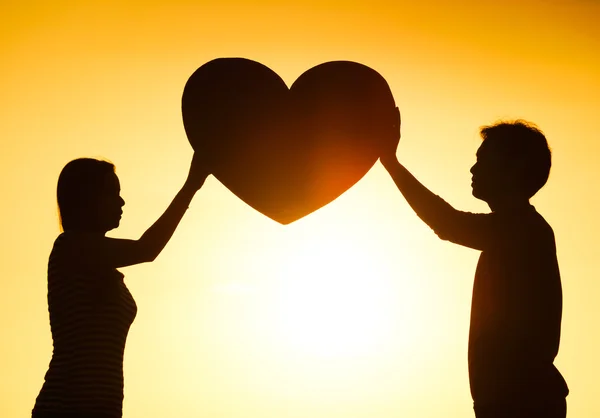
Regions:
<instances>
[{"instance_id":1,"label":"dark long-sleeved shirt worn by the man","mask_svg":"<svg viewBox=\"0 0 600 418\"><path fill-rule=\"evenodd\" d=\"M475 405L551 403L567 396L554 366L562 289L552 228L531 205L473 214L442 199L430 225L481 250L471 305L469 381Z\"/></svg>"}]
</instances>

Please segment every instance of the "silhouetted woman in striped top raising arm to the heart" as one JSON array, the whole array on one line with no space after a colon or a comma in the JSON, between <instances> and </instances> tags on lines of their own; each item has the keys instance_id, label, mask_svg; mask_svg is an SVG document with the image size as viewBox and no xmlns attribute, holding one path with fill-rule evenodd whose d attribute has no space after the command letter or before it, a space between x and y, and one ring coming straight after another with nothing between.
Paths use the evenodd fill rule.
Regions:
<instances>
[{"instance_id":1,"label":"silhouetted woman in striped top raising arm to the heart","mask_svg":"<svg viewBox=\"0 0 600 418\"><path fill-rule=\"evenodd\" d=\"M209 172L196 153L181 190L138 240L115 239L125 201L113 164L69 162L58 179L63 228L48 262L54 350L33 418L122 416L123 352L137 307L119 267L153 261Z\"/></svg>"}]
</instances>

